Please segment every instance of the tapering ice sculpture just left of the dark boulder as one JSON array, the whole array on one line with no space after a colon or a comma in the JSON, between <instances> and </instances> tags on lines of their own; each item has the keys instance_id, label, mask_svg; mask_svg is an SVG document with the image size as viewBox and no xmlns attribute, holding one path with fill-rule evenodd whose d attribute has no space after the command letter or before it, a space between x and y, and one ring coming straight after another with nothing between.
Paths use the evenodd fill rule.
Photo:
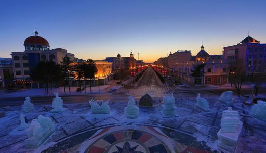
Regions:
<instances>
[{"instance_id":1,"label":"tapering ice sculpture just left of the dark boulder","mask_svg":"<svg viewBox=\"0 0 266 153\"><path fill-rule=\"evenodd\" d=\"M136 106L133 96L129 97L127 107L125 108L125 115L130 119L137 118L139 115L139 108Z\"/></svg>"}]
</instances>

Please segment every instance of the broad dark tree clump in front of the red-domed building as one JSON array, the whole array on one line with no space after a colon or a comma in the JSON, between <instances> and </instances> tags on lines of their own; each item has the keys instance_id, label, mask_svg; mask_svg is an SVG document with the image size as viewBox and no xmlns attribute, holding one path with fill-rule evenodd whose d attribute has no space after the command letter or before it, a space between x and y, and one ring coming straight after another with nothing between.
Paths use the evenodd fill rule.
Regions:
<instances>
[{"instance_id":1,"label":"broad dark tree clump in front of the red-domed building","mask_svg":"<svg viewBox=\"0 0 266 153\"><path fill-rule=\"evenodd\" d=\"M32 80L46 84L45 88L47 93L49 83L60 81L61 76L62 71L60 65L52 60L39 62L31 73Z\"/></svg>"}]
</instances>

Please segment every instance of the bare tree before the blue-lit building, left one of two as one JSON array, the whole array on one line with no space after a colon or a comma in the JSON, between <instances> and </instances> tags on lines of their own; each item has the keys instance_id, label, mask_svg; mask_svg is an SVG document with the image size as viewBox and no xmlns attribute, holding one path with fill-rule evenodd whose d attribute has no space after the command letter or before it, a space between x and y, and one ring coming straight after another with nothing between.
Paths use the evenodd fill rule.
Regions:
<instances>
[{"instance_id":1,"label":"bare tree before the blue-lit building, left one of two","mask_svg":"<svg viewBox=\"0 0 266 153\"><path fill-rule=\"evenodd\" d=\"M245 66L242 60L235 61L235 73L232 76L234 86L236 88L238 96L240 96L240 90L243 81L245 80Z\"/></svg>"}]
</instances>

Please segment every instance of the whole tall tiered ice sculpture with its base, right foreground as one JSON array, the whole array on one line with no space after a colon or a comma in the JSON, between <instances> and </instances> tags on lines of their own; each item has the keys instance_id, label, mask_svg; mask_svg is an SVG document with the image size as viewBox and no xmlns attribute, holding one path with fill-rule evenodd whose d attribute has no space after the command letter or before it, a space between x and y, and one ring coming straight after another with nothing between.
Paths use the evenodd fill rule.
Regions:
<instances>
[{"instance_id":1,"label":"whole tall tiered ice sculpture with its base, right foreground","mask_svg":"<svg viewBox=\"0 0 266 153\"><path fill-rule=\"evenodd\" d=\"M239 119L238 111L233 111L232 107L223 111L221 119L221 129L217 133L217 147L223 152L234 152L243 123Z\"/></svg>"}]
</instances>

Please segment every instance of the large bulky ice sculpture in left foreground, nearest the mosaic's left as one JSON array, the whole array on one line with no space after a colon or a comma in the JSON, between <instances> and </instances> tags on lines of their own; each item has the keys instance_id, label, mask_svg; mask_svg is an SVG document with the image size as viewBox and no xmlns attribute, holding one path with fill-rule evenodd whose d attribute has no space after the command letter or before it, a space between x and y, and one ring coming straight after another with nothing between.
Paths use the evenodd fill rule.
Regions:
<instances>
[{"instance_id":1,"label":"large bulky ice sculpture in left foreground, nearest the mosaic's left","mask_svg":"<svg viewBox=\"0 0 266 153\"><path fill-rule=\"evenodd\" d=\"M26 131L28 139L25 140L26 149L38 148L53 132L55 125L49 117L38 116L33 119Z\"/></svg>"}]
</instances>

